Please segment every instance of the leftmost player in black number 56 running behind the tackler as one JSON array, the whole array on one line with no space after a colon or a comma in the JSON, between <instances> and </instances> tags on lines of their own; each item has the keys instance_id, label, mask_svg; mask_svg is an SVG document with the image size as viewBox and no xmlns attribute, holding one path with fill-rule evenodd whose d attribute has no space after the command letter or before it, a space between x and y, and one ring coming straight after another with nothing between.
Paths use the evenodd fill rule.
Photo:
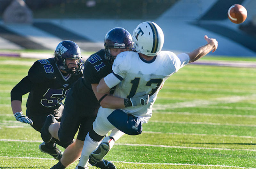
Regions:
<instances>
[{"instance_id":1,"label":"leftmost player in black number 56 running behind the tackler","mask_svg":"<svg viewBox=\"0 0 256 169\"><path fill-rule=\"evenodd\" d=\"M47 115L52 114L60 121L64 105L72 84L83 76L84 61L80 48L70 40L62 41L56 47L54 58L36 61L24 77L11 91L12 112L17 121L30 124L41 132ZM22 95L29 92L26 116L21 109ZM62 143L57 139L42 143L39 149L60 160L62 151L56 144L66 148L72 143Z\"/></svg>"}]
</instances>

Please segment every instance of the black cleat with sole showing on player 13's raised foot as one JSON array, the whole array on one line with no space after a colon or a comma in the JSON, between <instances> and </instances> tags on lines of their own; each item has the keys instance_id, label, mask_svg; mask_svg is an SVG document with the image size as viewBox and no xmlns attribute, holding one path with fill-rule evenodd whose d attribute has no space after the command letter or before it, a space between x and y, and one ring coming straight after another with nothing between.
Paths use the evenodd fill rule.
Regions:
<instances>
[{"instance_id":1,"label":"black cleat with sole showing on player 13's raised foot","mask_svg":"<svg viewBox=\"0 0 256 169\"><path fill-rule=\"evenodd\" d=\"M103 157L105 157L108 151L109 143L100 143L98 148L90 154L89 163L94 166L96 163L100 162Z\"/></svg>"}]
</instances>

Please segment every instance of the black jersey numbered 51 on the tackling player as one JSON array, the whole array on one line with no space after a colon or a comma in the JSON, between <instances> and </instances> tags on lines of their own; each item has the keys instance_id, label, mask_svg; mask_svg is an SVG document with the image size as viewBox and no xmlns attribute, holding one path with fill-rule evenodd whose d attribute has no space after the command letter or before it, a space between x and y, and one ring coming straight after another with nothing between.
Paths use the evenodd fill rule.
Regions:
<instances>
[{"instance_id":1,"label":"black jersey numbered 51 on the tackling player","mask_svg":"<svg viewBox=\"0 0 256 169\"><path fill-rule=\"evenodd\" d=\"M84 63L84 77L74 84L74 95L84 107L100 107L92 91L91 84L100 83L100 79L112 72L112 63L105 59L105 51L92 54Z\"/></svg>"}]
</instances>

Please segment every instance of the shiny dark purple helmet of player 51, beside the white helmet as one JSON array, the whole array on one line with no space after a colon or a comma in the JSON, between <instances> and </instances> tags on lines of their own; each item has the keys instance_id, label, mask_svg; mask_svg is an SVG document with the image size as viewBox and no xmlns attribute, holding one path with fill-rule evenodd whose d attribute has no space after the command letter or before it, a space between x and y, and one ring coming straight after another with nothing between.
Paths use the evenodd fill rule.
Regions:
<instances>
[{"instance_id":1,"label":"shiny dark purple helmet of player 51, beside the white helmet","mask_svg":"<svg viewBox=\"0 0 256 169\"><path fill-rule=\"evenodd\" d=\"M116 56L110 54L110 48L127 48L132 50L132 35L121 27L115 27L108 31L105 36L105 57L109 61L114 61Z\"/></svg>"}]
</instances>

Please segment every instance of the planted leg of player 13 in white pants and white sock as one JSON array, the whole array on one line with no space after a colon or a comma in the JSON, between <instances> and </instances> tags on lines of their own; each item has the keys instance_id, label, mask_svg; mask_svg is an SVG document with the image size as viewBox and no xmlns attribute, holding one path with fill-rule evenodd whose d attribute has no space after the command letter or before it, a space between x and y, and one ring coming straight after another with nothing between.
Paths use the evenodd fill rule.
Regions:
<instances>
[{"instance_id":1,"label":"planted leg of player 13 in white pants and white sock","mask_svg":"<svg viewBox=\"0 0 256 169\"><path fill-rule=\"evenodd\" d=\"M107 116L112 111L112 109L103 109L102 107L100 107L97 118L93 122L93 129L85 137L84 147L78 166L87 166L87 163L89 161L89 155L99 146L102 138L108 133L108 131L115 128L107 120Z\"/></svg>"}]
</instances>

